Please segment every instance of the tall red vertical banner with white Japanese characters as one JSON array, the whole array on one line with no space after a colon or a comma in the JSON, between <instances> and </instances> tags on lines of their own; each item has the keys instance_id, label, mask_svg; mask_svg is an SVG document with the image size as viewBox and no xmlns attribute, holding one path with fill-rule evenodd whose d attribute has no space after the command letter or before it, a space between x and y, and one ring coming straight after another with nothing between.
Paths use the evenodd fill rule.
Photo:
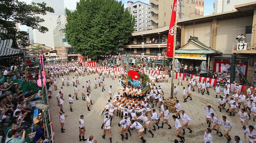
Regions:
<instances>
[{"instance_id":1,"label":"tall red vertical banner with white Japanese characters","mask_svg":"<svg viewBox=\"0 0 256 143\"><path fill-rule=\"evenodd\" d=\"M174 35L175 35L175 22L176 22L176 8L177 7L177 0L173 1L173 7L172 7L172 15L171 15L171 22L168 32L168 40L167 40L167 49L166 49L166 56L169 58L173 58L173 42L174 41Z\"/></svg>"}]
</instances>

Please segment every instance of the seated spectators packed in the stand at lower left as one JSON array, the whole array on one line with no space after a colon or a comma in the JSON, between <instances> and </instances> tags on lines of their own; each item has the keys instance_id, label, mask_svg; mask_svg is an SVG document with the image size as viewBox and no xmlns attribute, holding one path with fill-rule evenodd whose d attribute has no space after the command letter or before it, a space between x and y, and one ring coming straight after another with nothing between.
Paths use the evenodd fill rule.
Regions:
<instances>
[{"instance_id":1,"label":"seated spectators packed in the stand at lower left","mask_svg":"<svg viewBox=\"0 0 256 143\"><path fill-rule=\"evenodd\" d=\"M21 87L11 81L10 76L6 77L4 83L0 83L0 87L0 124L7 129L6 132L0 130L0 139L5 143L24 143L26 132L33 129L31 134L34 138L31 142L47 142L42 111L39 110L38 116L33 118L36 103L43 102L42 89L20 90Z\"/></svg>"}]
</instances>

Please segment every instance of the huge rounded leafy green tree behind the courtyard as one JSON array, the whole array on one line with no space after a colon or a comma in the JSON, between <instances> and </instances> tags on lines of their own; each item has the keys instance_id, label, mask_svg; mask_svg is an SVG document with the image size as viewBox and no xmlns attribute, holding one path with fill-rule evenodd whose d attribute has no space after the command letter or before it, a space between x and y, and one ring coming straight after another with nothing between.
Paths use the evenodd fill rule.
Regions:
<instances>
[{"instance_id":1,"label":"huge rounded leafy green tree behind the courtyard","mask_svg":"<svg viewBox=\"0 0 256 143\"><path fill-rule=\"evenodd\" d=\"M74 12L66 13L66 39L83 55L115 52L134 31L135 20L121 1L80 0Z\"/></svg>"}]
</instances>

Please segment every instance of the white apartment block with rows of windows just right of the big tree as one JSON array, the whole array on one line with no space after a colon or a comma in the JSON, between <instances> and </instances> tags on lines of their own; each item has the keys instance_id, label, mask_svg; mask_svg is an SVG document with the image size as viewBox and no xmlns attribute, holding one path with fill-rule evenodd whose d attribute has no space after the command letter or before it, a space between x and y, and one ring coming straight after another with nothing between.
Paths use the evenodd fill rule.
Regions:
<instances>
[{"instance_id":1,"label":"white apartment block with rows of windows just right of the big tree","mask_svg":"<svg viewBox=\"0 0 256 143\"><path fill-rule=\"evenodd\" d=\"M149 26L151 25L151 21L149 20L149 17L151 17L151 14L149 13L150 8L151 6L144 2L133 2L132 0L127 1L126 9L135 18L135 31L149 29Z\"/></svg>"}]
</instances>

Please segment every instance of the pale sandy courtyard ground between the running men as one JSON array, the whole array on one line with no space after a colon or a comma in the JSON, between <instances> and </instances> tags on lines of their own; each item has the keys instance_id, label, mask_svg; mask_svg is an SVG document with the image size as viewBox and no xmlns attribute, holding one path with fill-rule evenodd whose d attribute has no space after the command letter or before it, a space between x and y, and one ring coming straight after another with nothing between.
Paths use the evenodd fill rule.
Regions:
<instances>
[{"instance_id":1,"label":"pale sandy courtyard ground between the running men","mask_svg":"<svg viewBox=\"0 0 256 143\"><path fill-rule=\"evenodd\" d=\"M73 73L69 76L70 79L73 77ZM66 78L65 76L64 78ZM79 77L80 80L80 85L78 85L79 91L79 100L74 100L73 104L73 112L70 112L69 108L69 103L68 103L68 95L71 94L72 96L74 95L74 87L72 85L72 82L70 83L70 86L64 86L64 114L68 115L66 118L66 122L64 125L65 133L61 133L60 129L60 122L59 122L59 112L60 108L57 106L56 102L56 95L58 91L60 91L61 88L61 77L56 78L57 81L59 82L58 85L58 90L52 91L52 97L50 99L50 108L51 108L51 114L52 114L52 120L53 120L53 125L54 125L54 132L55 132L55 142L56 143L78 143L79 142L79 119L80 115L84 115L84 121L85 121L85 138L88 139L90 135L94 136L94 140L98 140L99 143L109 143L109 136L108 133L106 135L106 139L102 139L102 134L103 130L100 128L101 124L103 122L103 115L101 115L102 110L104 109L104 106L109 99L109 86L112 85L113 92L112 94L115 95L116 91L121 88L118 84L118 79L116 80L111 80L111 78L105 78L105 85L106 85L106 90L104 92L101 91L101 88L94 89L94 78L98 78L98 74L93 74L90 76L85 76L85 77ZM93 105L91 105L91 111L87 110L86 107L86 101L82 100L81 97L81 89L82 86L85 86L86 80L91 80L92 88L91 88L91 94L92 94L92 100L93 100ZM170 86L171 86L171 79L169 79L169 83L163 83L163 90L164 90L164 96L165 98L170 96ZM177 80L174 79L174 85L177 86ZM187 85L187 83L183 82L183 86ZM178 94L177 98L180 100L182 109L185 110L186 114L192 119L190 122L190 128L193 130L192 133L189 133L188 129L185 129L186 134L184 135L185 137L185 142L186 143L203 143L203 135L205 132L205 129L207 128L208 124L205 121L205 111L203 110L203 106L205 105L211 105L212 109L216 112L216 117L221 120L222 115L228 115L225 111L222 110L222 112L219 112L218 110L218 103L217 103L217 98L215 97L215 92L213 88L210 88L210 95L201 95L198 94L197 92L192 93L192 99L193 100L188 100L188 102L183 103L183 98L182 98L182 87L183 86L177 86L178 89ZM187 89L187 88L186 88ZM151 103L150 103L151 104ZM155 107L155 109L158 111L158 108ZM116 113L116 111L115 111ZM172 119L172 115L174 113L170 113L170 119L169 123L171 126L174 126L174 121ZM159 115L159 113L158 113ZM119 121L121 120L120 117L117 117L114 115L112 124L111 124L111 135L112 135L112 142L113 143L129 143L129 142L135 142L135 143L140 143L141 140L137 137L137 130L131 131L132 135L128 135L128 140L121 140L121 136L119 135L119 130L120 127L118 126ZM161 119L162 120L162 119ZM239 118L237 117L237 114L235 117L230 117L227 116L227 120L229 120L233 124L232 130L229 132L230 137L231 137L231 143L234 143L234 136L238 135L241 138L242 142L248 142L248 140L244 139L244 130L242 129L242 125L239 122ZM182 121L181 121L182 123ZM254 126L255 122L252 120L249 121L249 125ZM161 125L161 121L160 121ZM147 140L147 143L156 143L156 142L161 142L161 143L170 143L173 142L177 137L175 137L175 128L172 128L171 130L167 129L167 125L164 124L164 128L160 128L159 130L153 131L154 138L152 138L151 134L147 132L147 134L144 135L144 139ZM151 130L153 129L152 126L152 121L150 120L150 128ZM247 125L248 128L248 125ZM221 127L221 131L223 133L223 128ZM219 137L216 135L216 131L212 131L212 137L214 143L225 143L227 142L227 139L222 136ZM248 137L247 137L248 138ZM180 141L180 139L178 139ZM82 141L81 141L82 142Z\"/></svg>"}]
</instances>

